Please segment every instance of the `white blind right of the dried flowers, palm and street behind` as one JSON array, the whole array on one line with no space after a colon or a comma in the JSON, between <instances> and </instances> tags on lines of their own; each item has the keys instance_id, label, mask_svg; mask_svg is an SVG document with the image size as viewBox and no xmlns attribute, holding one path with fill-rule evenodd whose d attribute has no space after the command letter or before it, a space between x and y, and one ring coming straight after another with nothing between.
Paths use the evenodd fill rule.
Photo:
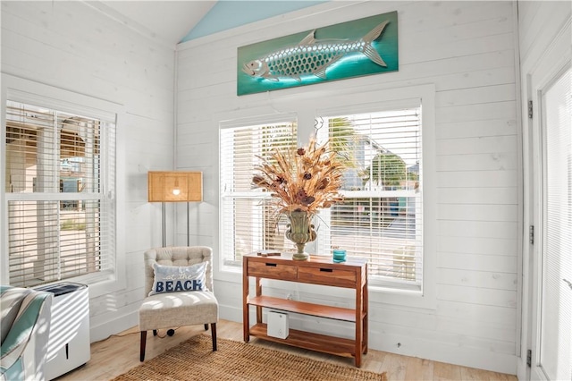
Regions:
<instances>
[{"instance_id":1,"label":"white blind right of the dried flowers, palm and street behind","mask_svg":"<svg viewBox=\"0 0 572 381\"><path fill-rule=\"evenodd\" d=\"M421 107L319 118L348 168L344 202L321 212L319 251L368 258L371 284L420 291ZM324 133L324 132L322 132ZM397 283L397 285L396 285Z\"/></svg>"}]
</instances>

